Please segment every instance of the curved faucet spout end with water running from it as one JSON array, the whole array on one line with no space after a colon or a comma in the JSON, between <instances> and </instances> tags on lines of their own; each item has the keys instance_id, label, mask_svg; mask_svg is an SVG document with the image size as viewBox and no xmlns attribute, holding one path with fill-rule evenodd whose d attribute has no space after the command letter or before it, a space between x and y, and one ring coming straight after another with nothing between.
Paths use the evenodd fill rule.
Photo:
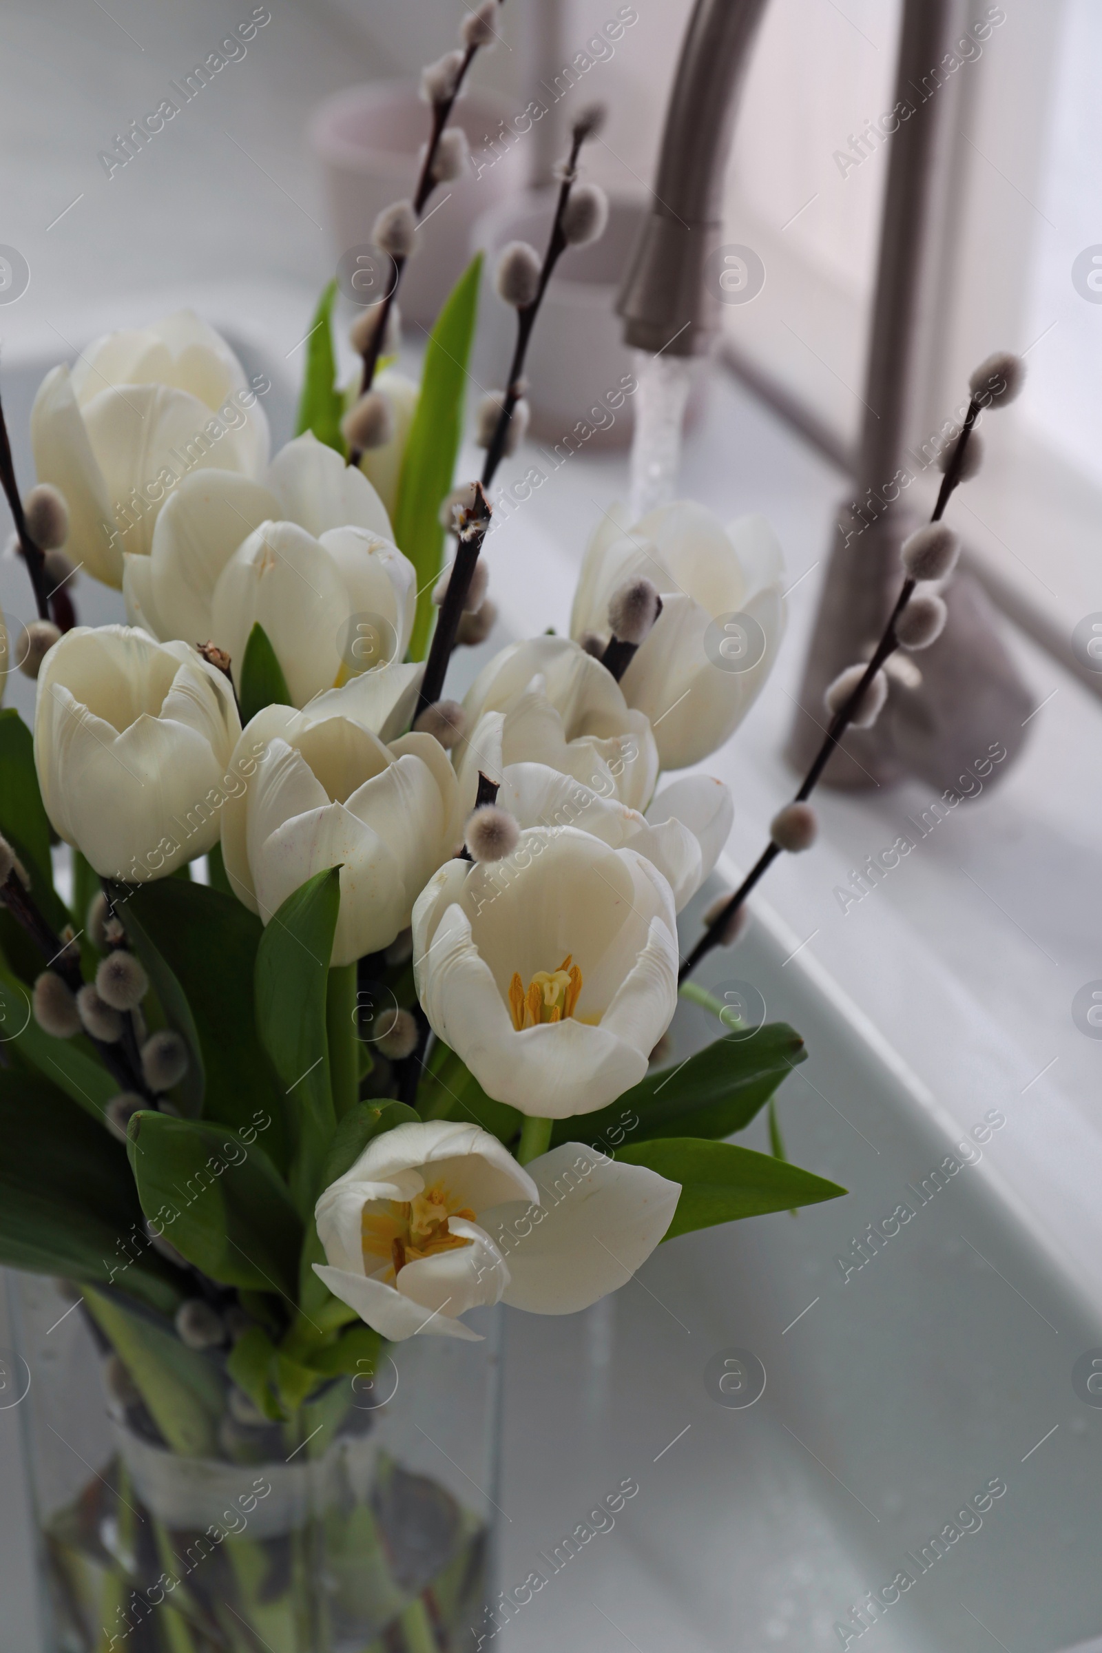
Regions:
<instances>
[{"instance_id":1,"label":"curved faucet spout end with water running from it","mask_svg":"<svg viewBox=\"0 0 1102 1653\"><path fill-rule=\"evenodd\" d=\"M616 311L638 350L701 355L719 331L705 260L722 236L720 190L735 93L765 0L696 0L666 111L651 212Z\"/></svg>"}]
</instances>

